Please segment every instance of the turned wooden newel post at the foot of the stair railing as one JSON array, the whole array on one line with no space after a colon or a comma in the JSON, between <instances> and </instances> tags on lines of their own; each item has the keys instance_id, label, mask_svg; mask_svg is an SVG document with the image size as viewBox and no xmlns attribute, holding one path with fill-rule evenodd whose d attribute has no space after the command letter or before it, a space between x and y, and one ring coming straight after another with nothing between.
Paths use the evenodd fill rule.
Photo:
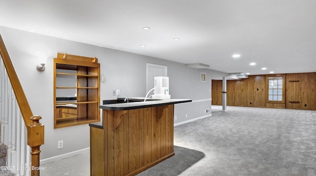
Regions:
<instances>
[{"instance_id":1,"label":"turned wooden newel post at the foot of the stair railing","mask_svg":"<svg viewBox=\"0 0 316 176\"><path fill-rule=\"evenodd\" d=\"M31 175L40 176L40 146L44 144L44 125L40 123L40 116L32 116L33 122L27 126L28 145L31 149Z\"/></svg>"}]
</instances>

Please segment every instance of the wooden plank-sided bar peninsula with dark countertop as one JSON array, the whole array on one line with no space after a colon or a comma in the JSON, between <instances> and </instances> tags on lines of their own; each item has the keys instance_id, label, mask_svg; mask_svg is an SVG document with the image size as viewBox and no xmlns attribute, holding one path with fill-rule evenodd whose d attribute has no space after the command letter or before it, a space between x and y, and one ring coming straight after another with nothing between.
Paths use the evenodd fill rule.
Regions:
<instances>
[{"instance_id":1,"label":"wooden plank-sided bar peninsula with dark countertop","mask_svg":"<svg viewBox=\"0 0 316 176\"><path fill-rule=\"evenodd\" d=\"M174 155L174 104L192 100L136 100L99 106L103 122L89 124L91 176L134 176Z\"/></svg>"}]
</instances>

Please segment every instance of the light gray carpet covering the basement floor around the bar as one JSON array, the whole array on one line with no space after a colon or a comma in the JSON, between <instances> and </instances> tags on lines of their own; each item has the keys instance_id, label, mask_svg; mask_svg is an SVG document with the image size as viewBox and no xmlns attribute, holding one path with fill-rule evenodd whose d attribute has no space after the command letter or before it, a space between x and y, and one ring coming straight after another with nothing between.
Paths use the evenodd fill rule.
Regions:
<instances>
[{"instance_id":1,"label":"light gray carpet covering the basement floor around the bar","mask_svg":"<svg viewBox=\"0 0 316 176\"><path fill-rule=\"evenodd\" d=\"M316 111L227 109L212 106L211 117L174 128L175 146L204 157L187 165L188 154L167 164L177 155L175 147L176 155L151 168L150 176L316 176ZM81 157L47 164L41 175L58 170L58 175L88 176L89 154Z\"/></svg>"}]
</instances>

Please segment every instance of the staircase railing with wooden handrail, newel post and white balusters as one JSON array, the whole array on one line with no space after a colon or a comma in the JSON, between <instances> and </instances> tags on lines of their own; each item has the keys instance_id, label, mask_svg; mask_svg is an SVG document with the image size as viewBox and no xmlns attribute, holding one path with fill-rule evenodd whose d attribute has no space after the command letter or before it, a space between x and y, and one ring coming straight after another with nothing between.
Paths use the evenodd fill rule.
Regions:
<instances>
[{"instance_id":1,"label":"staircase railing with wooden handrail, newel post and white balusters","mask_svg":"<svg viewBox=\"0 0 316 176\"><path fill-rule=\"evenodd\" d=\"M39 121L41 119L40 116L33 116L1 35L0 54L2 58L1 123L4 123L3 125L1 124L1 141L3 139L4 144L8 146L7 165L12 166L7 168L12 171L15 169L16 175L24 174L23 171L30 171L32 176L40 176L40 146L44 144L44 125ZM20 121L20 115L22 115L23 121ZM22 153L25 150L23 148L25 146L25 141L23 141L25 139L23 138L25 136L23 122L27 131L27 145L30 147L27 149L27 153L30 150L31 167L28 165L30 163L28 160L25 161L27 165L23 166L25 160ZM19 154L21 157L18 156ZM13 158L16 158L14 160L18 163L12 163Z\"/></svg>"}]
</instances>

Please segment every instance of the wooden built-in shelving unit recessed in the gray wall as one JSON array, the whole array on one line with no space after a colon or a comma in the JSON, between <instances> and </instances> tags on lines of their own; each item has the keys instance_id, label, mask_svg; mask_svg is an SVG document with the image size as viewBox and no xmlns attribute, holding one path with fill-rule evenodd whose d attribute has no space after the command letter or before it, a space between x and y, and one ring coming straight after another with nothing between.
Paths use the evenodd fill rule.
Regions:
<instances>
[{"instance_id":1,"label":"wooden built-in shelving unit recessed in the gray wall","mask_svg":"<svg viewBox=\"0 0 316 176\"><path fill-rule=\"evenodd\" d=\"M60 77L64 80L59 81ZM75 86L67 85L68 77ZM63 82L67 86L62 85ZM76 92L76 100L56 101L59 96L56 92L63 90ZM97 59L58 53L54 58L54 128L100 121L99 104L100 64ZM76 110L77 115L74 115Z\"/></svg>"}]
</instances>

